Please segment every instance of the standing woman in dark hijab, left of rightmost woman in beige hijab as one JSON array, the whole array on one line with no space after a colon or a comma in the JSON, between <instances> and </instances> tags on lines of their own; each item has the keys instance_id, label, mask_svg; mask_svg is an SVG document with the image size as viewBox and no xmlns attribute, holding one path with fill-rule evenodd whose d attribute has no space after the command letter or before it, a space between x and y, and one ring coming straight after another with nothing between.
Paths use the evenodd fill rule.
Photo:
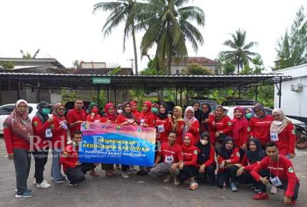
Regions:
<instances>
[{"instance_id":1,"label":"standing woman in dark hijab, left of rightmost woman in beige hijab","mask_svg":"<svg viewBox=\"0 0 307 207\"><path fill-rule=\"evenodd\" d=\"M260 103L255 105L254 110L256 117L251 118L249 121L250 137L258 138L262 147L265 147L270 141L270 126L273 117L265 113L265 108Z\"/></svg>"}]
</instances>

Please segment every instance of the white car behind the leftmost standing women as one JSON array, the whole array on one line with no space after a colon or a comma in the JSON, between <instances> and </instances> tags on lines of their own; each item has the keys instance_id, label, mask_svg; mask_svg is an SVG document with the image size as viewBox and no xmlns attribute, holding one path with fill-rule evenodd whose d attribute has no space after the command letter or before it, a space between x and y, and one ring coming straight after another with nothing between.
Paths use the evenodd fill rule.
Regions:
<instances>
[{"instance_id":1,"label":"white car behind the leftmost standing women","mask_svg":"<svg viewBox=\"0 0 307 207\"><path fill-rule=\"evenodd\" d=\"M37 103L28 103L29 106L29 117L32 120L37 112ZM3 134L3 122L5 121L6 117L10 115L12 110L15 108L15 103L9 103L0 106L0 134Z\"/></svg>"}]
</instances>

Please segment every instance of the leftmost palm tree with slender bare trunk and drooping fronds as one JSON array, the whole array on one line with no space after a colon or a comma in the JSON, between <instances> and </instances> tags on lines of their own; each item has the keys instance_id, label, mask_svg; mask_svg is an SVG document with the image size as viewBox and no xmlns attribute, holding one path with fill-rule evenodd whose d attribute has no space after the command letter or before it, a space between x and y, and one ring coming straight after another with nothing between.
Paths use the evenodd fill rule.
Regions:
<instances>
[{"instance_id":1,"label":"leftmost palm tree with slender bare trunk and drooping fronds","mask_svg":"<svg viewBox=\"0 0 307 207\"><path fill-rule=\"evenodd\" d=\"M123 36L123 51L125 51L125 40L132 35L134 46L134 64L136 74L138 74L138 54L136 52L136 37L134 30L134 8L136 5L142 4L136 0L117 0L110 2L101 2L94 5L94 11L102 10L104 12L111 12L106 23L103 25L103 36L108 36L112 33L112 29L117 27L120 23L125 22L124 36Z\"/></svg>"}]
</instances>

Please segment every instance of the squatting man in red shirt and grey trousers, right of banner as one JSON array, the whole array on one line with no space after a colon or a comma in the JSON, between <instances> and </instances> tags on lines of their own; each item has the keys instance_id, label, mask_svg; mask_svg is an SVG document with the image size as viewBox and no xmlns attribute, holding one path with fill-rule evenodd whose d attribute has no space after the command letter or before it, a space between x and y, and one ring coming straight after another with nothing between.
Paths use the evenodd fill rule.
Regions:
<instances>
[{"instance_id":1,"label":"squatting man in red shirt and grey trousers, right of banner","mask_svg":"<svg viewBox=\"0 0 307 207\"><path fill-rule=\"evenodd\" d=\"M162 176L167 175L163 182L171 182L173 177L174 184L177 185L179 180L177 176L180 174L178 167L183 162L182 148L176 142L176 132L170 132L167 143L162 143L160 151L153 167L150 169L149 175ZM161 162L162 161L162 162Z\"/></svg>"}]
</instances>

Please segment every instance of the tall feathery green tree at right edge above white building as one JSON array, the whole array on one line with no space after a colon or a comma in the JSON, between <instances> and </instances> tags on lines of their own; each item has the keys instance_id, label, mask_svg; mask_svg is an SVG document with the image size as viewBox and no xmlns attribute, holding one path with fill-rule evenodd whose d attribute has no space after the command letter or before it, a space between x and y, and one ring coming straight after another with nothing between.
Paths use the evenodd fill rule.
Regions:
<instances>
[{"instance_id":1,"label":"tall feathery green tree at right edge above white building","mask_svg":"<svg viewBox=\"0 0 307 207\"><path fill-rule=\"evenodd\" d=\"M278 40L276 48L279 65L274 70L297 66L307 62L307 19L304 7L299 8L291 30Z\"/></svg>"}]
</instances>

